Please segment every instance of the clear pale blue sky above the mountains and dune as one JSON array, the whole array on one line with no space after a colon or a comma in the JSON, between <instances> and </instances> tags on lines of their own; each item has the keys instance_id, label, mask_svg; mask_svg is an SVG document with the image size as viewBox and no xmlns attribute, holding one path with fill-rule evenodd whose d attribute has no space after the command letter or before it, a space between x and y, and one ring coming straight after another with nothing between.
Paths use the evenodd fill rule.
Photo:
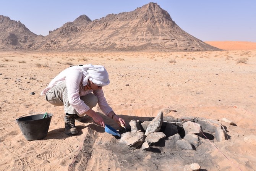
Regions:
<instances>
[{"instance_id":1,"label":"clear pale blue sky above the mountains and dune","mask_svg":"<svg viewBox=\"0 0 256 171\"><path fill-rule=\"evenodd\" d=\"M0 15L20 21L37 35L48 35L80 15L100 19L149 2L200 40L256 42L256 0L0 0Z\"/></svg>"}]
</instances>

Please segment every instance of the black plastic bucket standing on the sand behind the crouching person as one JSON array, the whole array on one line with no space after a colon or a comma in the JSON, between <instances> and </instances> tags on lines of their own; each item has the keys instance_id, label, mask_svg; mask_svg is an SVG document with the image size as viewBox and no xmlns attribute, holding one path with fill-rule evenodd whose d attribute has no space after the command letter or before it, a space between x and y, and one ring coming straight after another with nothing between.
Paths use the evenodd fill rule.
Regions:
<instances>
[{"instance_id":1,"label":"black plastic bucket standing on the sand behind the crouching person","mask_svg":"<svg viewBox=\"0 0 256 171\"><path fill-rule=\"evenodd\" d=\"M52 114L47 113L45 118L44 116L45 114L37 114L16 119L26 140L39 140L47 136Z\"/></svg>"}]
</instances>

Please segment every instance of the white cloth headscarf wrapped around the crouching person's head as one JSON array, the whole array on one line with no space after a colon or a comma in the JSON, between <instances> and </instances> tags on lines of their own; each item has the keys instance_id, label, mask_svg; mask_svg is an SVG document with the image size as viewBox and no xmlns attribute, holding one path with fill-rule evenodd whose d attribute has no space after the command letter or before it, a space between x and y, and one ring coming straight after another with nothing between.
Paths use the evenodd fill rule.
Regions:
<instances>
[{"instance_id":1,"label":"white cloth headscarf wrapped around the crouching person's head","mask_svg":"<svg viewBox=\"0 0 256 171\"><path fill-rule=\"evenodd\" d=\"M100 87L107 86L110 83L109 74L102 65L87 64L79 66L79 68L84 74L83 86L87 85L88 79Z\"/></svg>"}]
</instances>

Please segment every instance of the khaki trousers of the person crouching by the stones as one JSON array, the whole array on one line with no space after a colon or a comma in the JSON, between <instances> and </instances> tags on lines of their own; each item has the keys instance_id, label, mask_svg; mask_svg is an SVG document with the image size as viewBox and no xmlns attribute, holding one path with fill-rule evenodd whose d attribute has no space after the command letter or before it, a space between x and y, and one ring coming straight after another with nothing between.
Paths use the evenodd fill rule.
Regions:
<instances>
[{"instance_id":1,"label":"khaki trousers of the person crouching by the stones","mask_svg":"<svg viewBox=\"0 0 256 171\"><path fill-rule=\"evenodd\" d=\"M89 106L89 108L93 108L97 105L98 102L98 98L92 93L81 96L80 98L87 106ZM81 116L68 102L68 90L66 89L66 81L63 81L49 89L45 95L45 99L55 106L64 105L65 113L77 114L78 116Z\"/></svg>"}]
</instances>

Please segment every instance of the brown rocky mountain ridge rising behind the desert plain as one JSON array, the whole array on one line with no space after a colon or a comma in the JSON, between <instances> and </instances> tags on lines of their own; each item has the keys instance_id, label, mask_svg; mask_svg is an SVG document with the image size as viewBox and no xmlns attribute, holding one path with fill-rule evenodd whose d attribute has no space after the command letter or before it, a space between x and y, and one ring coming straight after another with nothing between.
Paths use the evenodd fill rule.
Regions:
<instances>
[{"instance_id":1,"label":"brown rocky mountain ridge rising behind the desert plain","mask_svg":"<svg viewBox=\"0 0 256 171\"><path fill-rule=\"evenodd\" d=\"M8 28L8 29L6 29ZM91 21L86 15L43 37L19 21L0 16L0 49L54 51L205 51L219 50L193 37L157 3Z\"/></svg>"}]
</instances>

